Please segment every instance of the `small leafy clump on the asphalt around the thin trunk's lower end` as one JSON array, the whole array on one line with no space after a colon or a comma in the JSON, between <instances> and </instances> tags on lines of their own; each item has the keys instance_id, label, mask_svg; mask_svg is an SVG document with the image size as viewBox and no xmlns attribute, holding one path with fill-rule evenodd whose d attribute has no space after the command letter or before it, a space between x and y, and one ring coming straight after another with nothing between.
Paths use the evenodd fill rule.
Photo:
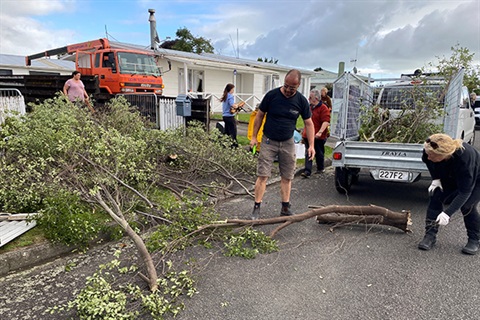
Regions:
<instances>
[{"instance_id":1,"label":"small leafy clump on the asphalt around the thin trunk's lower end","mask_svg":"<svg viewBox=\"0 0 480 320\"><path fill-rule=\"evenodd\" d=\"M137 272L136 266L123 266L121 251L115 253L115 259L102 264L86 280L85 287L75 299L64 305L49 308L48 314L76 312L79 319L164 319L171 314L177 315L184 309L180 297L192 297L195 279L190 270L174 271L171 261L166 262L165 276L158 281L157 292L146 293L139 285L125 283L125 277Z\"/></svg>"}]
</instances>

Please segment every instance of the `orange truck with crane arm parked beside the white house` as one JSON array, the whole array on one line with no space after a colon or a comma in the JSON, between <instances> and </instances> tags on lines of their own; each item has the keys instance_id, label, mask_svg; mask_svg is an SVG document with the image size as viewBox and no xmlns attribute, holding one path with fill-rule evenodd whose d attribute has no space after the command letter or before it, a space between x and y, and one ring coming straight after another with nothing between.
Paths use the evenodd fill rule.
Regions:
<instances>
[{"instance_id":1,"label":"orange truck with crane arm parked beside the white house","mask_svg":"<svg viewBox=\"0 0 480 320\"><path fill-rule=\"evenodd\" d=\"M27 56L26 65L34 59L55 55L68 55L65 59L74 60L75 69L82 76L98 77L96 95L100 100L116 94L163 94L162 73L153 51L133 49L103 38Z\"/></svg>"}]
</instances>

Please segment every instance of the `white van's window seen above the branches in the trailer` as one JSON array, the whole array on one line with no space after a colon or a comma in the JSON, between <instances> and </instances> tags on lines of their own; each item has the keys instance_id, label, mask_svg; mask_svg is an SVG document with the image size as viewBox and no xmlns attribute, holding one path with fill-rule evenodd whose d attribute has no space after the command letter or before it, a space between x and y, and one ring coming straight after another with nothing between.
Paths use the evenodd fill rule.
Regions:
<instances>
[{"instance_id":1,"label":"white van's window seen above the branches in the trailer","mask_svg":"<svg viewBox=\"0 0 480 320\"><path fill-rule=\"evenodd\" d=\"M405 107L415 107L415 102L425 99L436 99L443 104L442 86L394 86L386 87L380 93L378 104L387 109L402 109Z\"/></svg>"}]
</instances>

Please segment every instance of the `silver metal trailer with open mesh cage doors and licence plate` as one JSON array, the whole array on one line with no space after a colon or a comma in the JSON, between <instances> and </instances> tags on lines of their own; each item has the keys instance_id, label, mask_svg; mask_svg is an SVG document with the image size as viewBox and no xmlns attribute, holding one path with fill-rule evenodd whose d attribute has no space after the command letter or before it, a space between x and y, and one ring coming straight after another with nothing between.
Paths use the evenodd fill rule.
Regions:
<instances>
[{"instance_id":1,"label":"silver metal trailer with open mesh cage doors and licence plate","mask_svg":"<svg viewBox=\"0 0 480 320\"><path fill-rule=\"evenodd\" d=\"M468 90L463 86L463 74L461 69L449 83L442 98L444 116L440 121L444 133L473 144L474 112L470 107ZM384 85L376 93L369 83L348 72L334 82L331 135L338 142L333 150L332 166L335 168L335 189L339 193L349 192L362 171L368 172L374 180L400 183L412 183L418 181L422 174L428 174L421 159L422 143L359 141L361 106L371 108L374 104L383 104L389 112L395 113L398 110L396 104L402 101L401 95L408 86L423 85L413 83L416 81L413 75L403 76L394 83ZM429 85L441 85L441 82L435 81Z\"/></svg>"}]
</instances>

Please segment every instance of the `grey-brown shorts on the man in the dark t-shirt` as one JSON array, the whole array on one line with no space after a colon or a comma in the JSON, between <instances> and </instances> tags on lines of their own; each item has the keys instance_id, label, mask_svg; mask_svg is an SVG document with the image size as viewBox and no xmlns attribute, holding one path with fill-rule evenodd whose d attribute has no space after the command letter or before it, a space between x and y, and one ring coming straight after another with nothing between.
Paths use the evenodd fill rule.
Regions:
<instances>
[{"instance_id":1,"label":"grey-brown shorts on the man in the dark t-shirt","mask_svg":"<svg viewBox=\"0 0 480 320\"><path fill-rule=\"evenodd\" d=\"M285 141L275 141L263 135L260 155L258 156L257 176L271 176L273 161L277 155L280 176L292 180L297 164L293 137Z\"/></svg>"}]
</instances>

